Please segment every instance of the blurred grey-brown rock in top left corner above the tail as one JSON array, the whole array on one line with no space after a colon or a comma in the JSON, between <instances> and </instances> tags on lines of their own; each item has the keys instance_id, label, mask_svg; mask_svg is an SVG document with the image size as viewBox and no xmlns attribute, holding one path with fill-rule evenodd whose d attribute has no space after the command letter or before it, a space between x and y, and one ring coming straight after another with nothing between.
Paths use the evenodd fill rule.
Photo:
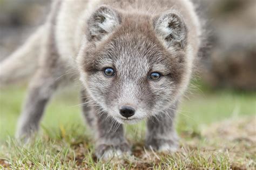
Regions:
<instances>
[{"instance_id":1,"label":"blurred grey-brown rock in top left corner above the tail","mask_svg":"<svg viewBox=\"0 0 256 170\"><path fill-rule=\"evenodd\" d=\"M0 0L0 61L44 22L50 0Z\"/></svg>"}]
</instances>

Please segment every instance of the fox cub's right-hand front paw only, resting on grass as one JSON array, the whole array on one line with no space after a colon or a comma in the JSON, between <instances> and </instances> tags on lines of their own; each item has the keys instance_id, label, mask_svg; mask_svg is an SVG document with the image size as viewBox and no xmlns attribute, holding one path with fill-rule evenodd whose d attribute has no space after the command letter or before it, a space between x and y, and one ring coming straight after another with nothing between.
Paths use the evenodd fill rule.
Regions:
<instances>
[{"instance_id":1,"label":"fox cub's right-hand front paw only, resting on grass","mask_svg":"<svg viewBox=\"0 0 256 170\"><path fill-rule=\"evenodd\" d=\"M151 139L146 141L146 147L158 152L176 152L179 148L177 139Z\"/></svg>"}]
</instances>

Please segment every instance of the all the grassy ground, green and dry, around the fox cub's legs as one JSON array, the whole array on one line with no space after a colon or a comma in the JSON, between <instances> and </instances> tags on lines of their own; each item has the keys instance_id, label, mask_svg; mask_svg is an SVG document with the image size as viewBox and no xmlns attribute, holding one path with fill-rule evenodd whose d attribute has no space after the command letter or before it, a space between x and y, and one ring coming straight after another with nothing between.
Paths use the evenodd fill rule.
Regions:
<instances>
[{"instance_id":1,"label":"all the grassy ground, green and dry, around the fox cub's legs","mask_svg":"<svg viewBox=\"0 0 256 170\"><path fill-rule=\"evenodd\" d=\"M203 89L203 88L201 88ZM126 126L132 155L97 160L90 129L80 114L74 89L58 93L49 104L41 133L22 146L13 137L25 90L0 91L0 168L85 169L255 169L256 94L232 90L192 90L180 105L180 150L156 153L143 147L145 125Z\"/></svg>"}]
</instances>

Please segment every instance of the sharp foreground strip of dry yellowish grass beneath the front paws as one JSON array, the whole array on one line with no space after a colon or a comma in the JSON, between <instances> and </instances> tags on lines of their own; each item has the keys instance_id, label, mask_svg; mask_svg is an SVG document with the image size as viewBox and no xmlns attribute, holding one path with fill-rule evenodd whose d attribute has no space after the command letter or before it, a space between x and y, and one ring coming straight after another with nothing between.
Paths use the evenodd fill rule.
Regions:
<instances>
[{"instance_id":1,"label":"sharp foreground strip of dry yellowish grass beneath the front paws","mask_svg":"<svg viewBox=\"0 0 256 170\"><path fill-rule=\"evenodd\" d=\"M93 142L86 136L49 136L28 146L9 139L2 146L2 168L83 168L83 169L255 169L255 116L228 119L203 128L201 133L181 132L177 153L164 154L145 150L136 143L133 155L109 162L93 155ZM63 132L60 132L63 133Z\"/></svg>"}]
</instances>

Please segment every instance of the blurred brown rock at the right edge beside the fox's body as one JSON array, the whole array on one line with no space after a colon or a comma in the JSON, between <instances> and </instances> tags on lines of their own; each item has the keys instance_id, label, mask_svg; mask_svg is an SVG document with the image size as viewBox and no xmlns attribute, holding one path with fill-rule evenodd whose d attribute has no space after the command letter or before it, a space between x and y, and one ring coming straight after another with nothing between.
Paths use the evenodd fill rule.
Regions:
<instances>
[{"instance_id":1,"label":"blurred brown rock at the right edge beside the fox's body","mask_svg":"<svg viewBox=\"0 0 256 170\"><path fill-rule=\"evenodd\" d=\"M256 1L207 1L212 53L203 79L212 87L256 90ZM206 5L205 5L206 6Z\"/></svg>"}]
</instances>

